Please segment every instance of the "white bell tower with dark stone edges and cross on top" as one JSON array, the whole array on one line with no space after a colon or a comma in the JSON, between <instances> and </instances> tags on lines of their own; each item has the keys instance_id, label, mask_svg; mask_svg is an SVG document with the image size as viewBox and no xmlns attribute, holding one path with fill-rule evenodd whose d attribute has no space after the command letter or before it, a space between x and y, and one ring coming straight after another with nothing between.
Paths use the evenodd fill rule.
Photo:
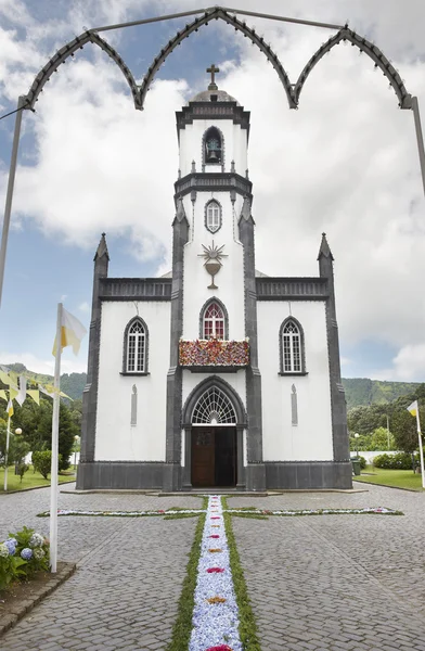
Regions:
<instances>
[{"instance_id":1,"label":"white bell tower with dark stone edges and cross on top","mask_svg":"<svg viewBox=\"0 0 425 651\"><path fill-rule=\"evenodd\" d=\"M169 475L169 489L191 485L188 468L191 436L182 431L182 408L194 386L211 378L226 381L241 396L246 409L245 424L239 430L237 482L241 487L263 488L258 368L253 384L249 361L226 368L205 360L191 366L179 359L178 352L181 340L196 347L199 340L214 339L223 342L217 343L217 347L223 348L229 341L236 348L250 348L250 359L257 367L253 186L247 164L249 112L228 92L219 90L216 82L219 72L215 64L208 67L207 90L193 97L176 114L179 176L175 183L177 215L167 388L167 462L173 468L171 473L169 467L173 476L171 480ZM253 393L256 393L253 401L256 413L250 414L248 403ZM253 430L248 430L248 422L253 423ZM256 464L253 470L256 477L249 469L245 472L243 456L248 467L249 461Z\"/></svg>"}]
</instances>

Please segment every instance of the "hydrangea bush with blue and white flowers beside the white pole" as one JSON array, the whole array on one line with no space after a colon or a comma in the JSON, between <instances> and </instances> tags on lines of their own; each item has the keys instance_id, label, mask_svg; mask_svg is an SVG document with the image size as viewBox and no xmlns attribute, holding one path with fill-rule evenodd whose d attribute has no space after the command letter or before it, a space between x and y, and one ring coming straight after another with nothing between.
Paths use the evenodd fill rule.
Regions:
<instances>
[{"instance_id":1,"label":"hydrangea bush with blue and white flowers beside the white pole","mask_svg":"<svg viewBox=\"0 0 425 651\"><path fill-rule=\"evenodd\" d=\"M38 570L49 570L49 542L44 536L24 526L0 542L0 591Z\"/></svg>"}]
</instances>

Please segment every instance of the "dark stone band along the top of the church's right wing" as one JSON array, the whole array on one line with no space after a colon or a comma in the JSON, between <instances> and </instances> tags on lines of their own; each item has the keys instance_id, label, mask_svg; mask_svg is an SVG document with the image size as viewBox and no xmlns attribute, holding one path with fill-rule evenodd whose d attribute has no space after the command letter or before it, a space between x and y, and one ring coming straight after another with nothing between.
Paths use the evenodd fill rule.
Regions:
<instances>
[{"instance_id":1,"label":"dark stone band along the top of the church's right wing","mask_svg":"<svg viewBox=\"0 0 425 651\"><path fill-rule=\"evenodd\" d=\"M326 278L256 278L257 301L325 301Z\"/></svg>"}]
</instances>

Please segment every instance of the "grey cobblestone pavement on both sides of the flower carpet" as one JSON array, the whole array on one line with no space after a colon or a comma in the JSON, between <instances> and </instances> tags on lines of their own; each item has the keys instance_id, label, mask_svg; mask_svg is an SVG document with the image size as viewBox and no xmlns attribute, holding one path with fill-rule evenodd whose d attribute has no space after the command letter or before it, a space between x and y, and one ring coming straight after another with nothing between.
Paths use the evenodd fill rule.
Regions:
<instances>
[{"instance_id":1,"label":"grey cobblestone pavement on both sides of the flower carpet","mask_svg":"<svg viewBox=\"0 0 425 651\"><path fill-rule=\"evenodd\" d=\"M363 487L363 486L362 486ZM425 494L231 498L230 506L377 507L405 516L233 519L262 651L425 651ZM198 498L64 495L61 508L199 508ZM0 496L0 539L48 533L49 489ZM196 519L61 518L61 560L76 574L0 640L2 651L165 649Z\"/></svg>"}]
</instances>

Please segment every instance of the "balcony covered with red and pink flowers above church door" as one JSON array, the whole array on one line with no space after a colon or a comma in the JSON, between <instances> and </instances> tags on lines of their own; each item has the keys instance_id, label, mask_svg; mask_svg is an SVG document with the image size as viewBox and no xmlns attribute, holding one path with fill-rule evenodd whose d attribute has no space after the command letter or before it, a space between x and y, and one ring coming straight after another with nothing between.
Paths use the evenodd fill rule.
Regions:
<instances>
[{"instance_id":1,"label":"balcony covered with red and pink flowers above church door","mask_svg":"<svg viewBox=\"0 0 425 651\"><path fill-rule=\"evenodd\" d=\"M247 340L180 340L179 365L193 372L236 372L249 365L249 343Z\"/></svg>"}]
</instances>

